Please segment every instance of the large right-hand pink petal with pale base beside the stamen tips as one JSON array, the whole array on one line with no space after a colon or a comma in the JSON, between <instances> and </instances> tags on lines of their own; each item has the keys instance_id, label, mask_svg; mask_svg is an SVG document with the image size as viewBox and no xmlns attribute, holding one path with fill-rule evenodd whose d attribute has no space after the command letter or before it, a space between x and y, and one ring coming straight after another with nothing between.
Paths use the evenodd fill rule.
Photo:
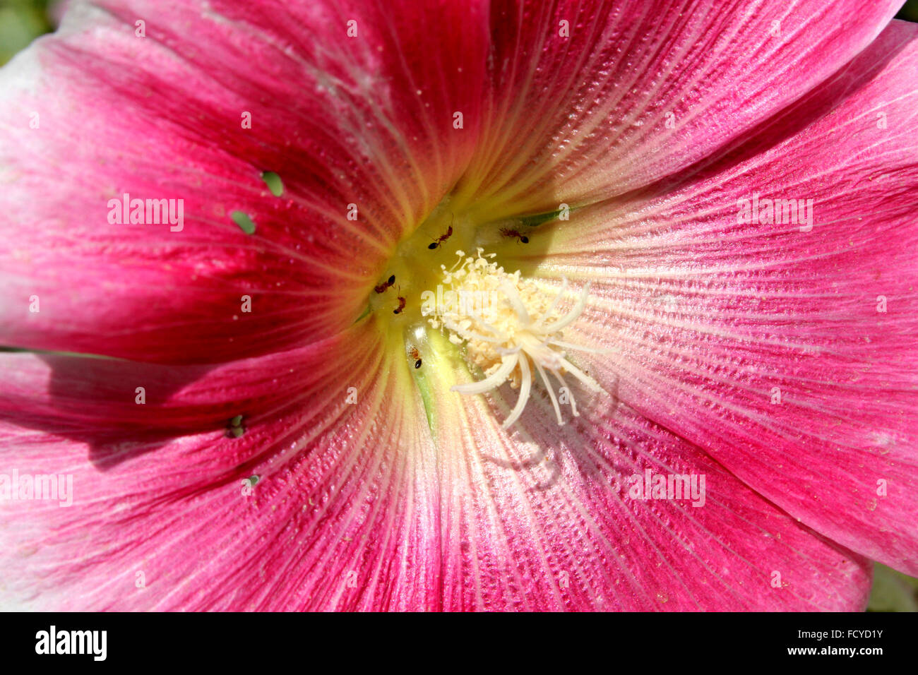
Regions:
<instances>
[{"instance_id":1,"label":"large right-hand pink petal with pale base beside the stamen tips","mask_svg":"<svg viewBox=\"0 0 918 675\"><path fill-rule=\"evenodd\" d=\"M624 404L817 532L912 575L916 30L893 22L681 184L582 211L554 231L544 267L594 282L571 336L618 350L588 361ZM737 224L754 193L812 198L812 231Z\"/></svg>"}]
</instances>

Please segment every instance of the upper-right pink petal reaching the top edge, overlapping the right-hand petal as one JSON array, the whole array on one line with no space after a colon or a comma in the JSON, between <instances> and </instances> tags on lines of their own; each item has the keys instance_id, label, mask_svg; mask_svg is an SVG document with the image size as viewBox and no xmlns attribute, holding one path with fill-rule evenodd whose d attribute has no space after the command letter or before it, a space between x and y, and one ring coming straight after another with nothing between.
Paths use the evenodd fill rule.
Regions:
<instances>
[{"instance_id":1,"label":"upper-right pink petal reaching the top edge, overlapping the right-hand petal","mask_svg":"<svg viewBox=\"0 0 918 675\"><path fill-rule=\"evenodd\" d=\"M491 20L494 104L459 192L498 219L677 174L844 66L899 6L500 3Z\"/></svg>"}]
</instances>

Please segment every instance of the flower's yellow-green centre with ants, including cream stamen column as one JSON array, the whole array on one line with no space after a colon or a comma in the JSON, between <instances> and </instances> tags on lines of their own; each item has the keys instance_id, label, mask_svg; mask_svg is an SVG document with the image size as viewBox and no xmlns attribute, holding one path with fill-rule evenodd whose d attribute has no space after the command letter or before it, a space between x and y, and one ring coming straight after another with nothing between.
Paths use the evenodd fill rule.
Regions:
<instances>
[{"instance_id":1,"label":"flower's yellow-green centre with ants, including cream stamen column","mask_svg":"<svg viewBox=\"0 0 918 675\"><path fill-rule=\"evenodd\" d=\"M597 351L563 340L563 331L583 312L589 286L566 304L567 280L557 293L521 275L507 272L495 262L496 253L484 253L476 246L482 240L511 245L529 245L531 233L514 227L495 225L493 231L474 231L461 219L442 213L433 225L422 227L398 247L397 255L386 268L386 276L371 293L370 307L397 329L405 343L409 365L418 370L423 363L426 332L445 334L479 381L453 386L459 394L483 394L509 381L520 389L520 396L503 422L508 428L516 422L529 400L536 374L554 406L558 424L564 423L561 406L549 376L561 387L562 402L569 402L577 416L577 403L565 375L579 380L592 391L599 384L567 358L565 350ZM476 256L466 256L462 246L475 246ZM532 249L535 247L533 246ZM531 250L532 250L531 249ZM440 261L452 252L457 256L452 267ZM440 271L435 272L435 263ZM417 380L417 377L416 377Z\"/></svg>"}]
</instances>

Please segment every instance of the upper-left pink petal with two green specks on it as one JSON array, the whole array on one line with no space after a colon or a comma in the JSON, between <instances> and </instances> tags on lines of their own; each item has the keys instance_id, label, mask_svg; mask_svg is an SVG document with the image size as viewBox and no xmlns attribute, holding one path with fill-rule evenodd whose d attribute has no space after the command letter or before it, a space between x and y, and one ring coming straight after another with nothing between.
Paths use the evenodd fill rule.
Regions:
<instances>
[{"instance_id":1,"label":"upper-left pink petal with two green specks on it","mask_svg":"<svg viewBox=\"0 0 918 675\"><path fill-rule=\"evenodd\" d=\"M473 152L483 10L103 5L0 74L0 344L218 362L353 323ZM183 230L110 224L124 193L184 199Z\"/></svg>"}]
</instances>

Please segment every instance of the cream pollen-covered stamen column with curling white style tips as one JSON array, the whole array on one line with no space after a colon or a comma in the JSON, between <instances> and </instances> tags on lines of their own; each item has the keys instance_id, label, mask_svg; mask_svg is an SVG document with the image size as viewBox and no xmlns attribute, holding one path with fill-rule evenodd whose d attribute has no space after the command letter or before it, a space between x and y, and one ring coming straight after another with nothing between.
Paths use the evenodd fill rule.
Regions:
<instances>
[{"instance_id":1,"label":"cream pollen-covered stamen column with curling white style tips","mask_svg":"<svg viewBox=\"0 0 918 675\"><path fill-rule=\"evenodd\" d=\"M577 296L574 307L561 313L558 304L567 290L567 279L562 280L561 290L549 299L542 289L531 280L521 278L520 271L512 275L489 262L494 254L466 257L457 251L459 261L453 269L443 271L443 285L453 291L446 307L438 307L436 316L430 319L435 329L449 331L450 342L465 343L465 358L480 367L485 378L478 382L453 386L461 394L483 394L498 388L507 380L512 387L520 388L520 398L503 423L504 429L516 422L522 414L532 390L532 370L538 372L548 395L552 399L558 424L564 424L558 399L549 382L546 371L566 388L571 411L577 417L577 403L567 387L565 373L577 377L593 391L602 388L592 377L582 372L565 358L564 348L597 352L587 347L565 343L561 331L583 312L587 305L589 285ZM456 301L458 299L458 301Z\"/></svg>"}]
</instances>

